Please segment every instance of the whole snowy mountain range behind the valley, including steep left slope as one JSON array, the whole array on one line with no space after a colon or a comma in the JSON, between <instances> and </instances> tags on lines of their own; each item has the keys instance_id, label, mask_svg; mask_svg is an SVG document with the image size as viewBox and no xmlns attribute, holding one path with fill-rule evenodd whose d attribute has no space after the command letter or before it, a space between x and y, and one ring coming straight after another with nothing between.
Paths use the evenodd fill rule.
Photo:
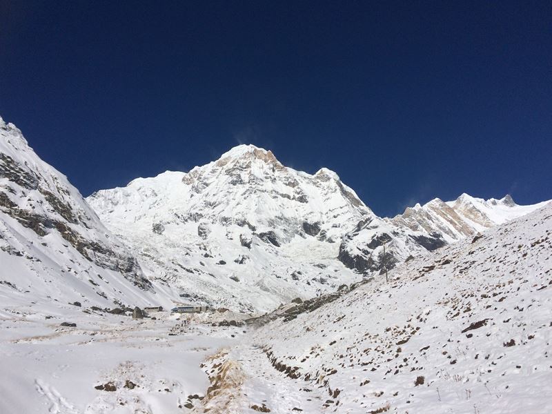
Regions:
<instances>
[{"instance_id":1,"label":"whole snowy mountain range behind the valley, including steep left slope","mask_svg":"<svg viewBox=\"0 0 552 414\"><path fill-rule=\"evenodd\" d=\"M335 172L293 170L252 145L84 199L0 119L0 283L22 300L31 290L101 306L193 302L262 313L544 204L463 194L377 217Z\"/></svg>"}]
</instances>

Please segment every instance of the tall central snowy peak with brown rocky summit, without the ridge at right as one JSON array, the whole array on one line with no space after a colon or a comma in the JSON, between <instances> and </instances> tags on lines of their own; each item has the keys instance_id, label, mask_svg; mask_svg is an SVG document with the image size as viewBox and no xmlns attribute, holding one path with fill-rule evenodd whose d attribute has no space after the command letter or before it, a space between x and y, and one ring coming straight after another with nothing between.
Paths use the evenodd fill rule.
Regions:
<instances>
[{"instance_id":1,"label":"tall central snowy peak with brown rocky summit, without the ridge at right","mask_svg":"<svg viewBox=\"0 0 552 414\"><path fill-rule=\"evenodd\" d=\"M150 278L195 302L249 312L359 279L336 260L339 242L375 217L334 172L298 172L255 146L88 201Z\"/></svg>"}]
</instances>

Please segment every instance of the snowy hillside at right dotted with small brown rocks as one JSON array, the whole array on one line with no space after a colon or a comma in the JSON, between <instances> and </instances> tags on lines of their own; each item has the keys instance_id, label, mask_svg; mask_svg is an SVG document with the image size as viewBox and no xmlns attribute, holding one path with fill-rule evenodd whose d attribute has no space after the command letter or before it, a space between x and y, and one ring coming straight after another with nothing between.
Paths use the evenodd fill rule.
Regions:
<instances>
[{"instance_id":1,"label":"snowy hillside at right dotted with small brown rocks","mask_svg":"<svg viewBox=\"0 0 552 414\"><path fill-rule=\"evenodd\" d=\"M388 283L283 308L217 361L247 373L226 412L550 413L551 252L546 204L401 264Z\"/></svg>"}]
</instances>

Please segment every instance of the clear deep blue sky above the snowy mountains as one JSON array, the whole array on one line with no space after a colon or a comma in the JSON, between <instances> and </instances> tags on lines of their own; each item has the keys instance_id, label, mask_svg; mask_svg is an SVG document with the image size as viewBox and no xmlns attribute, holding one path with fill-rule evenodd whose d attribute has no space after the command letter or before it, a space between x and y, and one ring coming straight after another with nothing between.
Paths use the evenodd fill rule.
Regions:
<instances>
[{"instance_id":1,"label":"clear deep blue sky above the snowy mountains","mask_svg":"<svg viewBox=\"0 0 552 414\"><path fill-rule=\"evenodd\" d=\"M0 115L83 195L250 143L379 215L552 198L550 1L0 0Z\"/></svg>"}]
</instances>

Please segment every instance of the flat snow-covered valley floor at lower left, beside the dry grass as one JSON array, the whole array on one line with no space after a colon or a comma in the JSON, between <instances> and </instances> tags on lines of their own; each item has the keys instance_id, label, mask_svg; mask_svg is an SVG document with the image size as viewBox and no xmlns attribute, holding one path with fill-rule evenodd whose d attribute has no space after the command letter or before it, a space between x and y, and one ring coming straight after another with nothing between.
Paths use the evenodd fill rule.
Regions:
<instances>
[{"instance_id":1,"label":"flat snow-covered valley floor at lower left, beside the dry grass","mask_svg":"<svg viewBox=\"0 0 552 414\"><path fill-rule=\"evenodd\" d=\"M201 362L243 335L161 314L37 307L0 311L0 413L183 413L209 386Z\"/></svg>"}]
</instances>

